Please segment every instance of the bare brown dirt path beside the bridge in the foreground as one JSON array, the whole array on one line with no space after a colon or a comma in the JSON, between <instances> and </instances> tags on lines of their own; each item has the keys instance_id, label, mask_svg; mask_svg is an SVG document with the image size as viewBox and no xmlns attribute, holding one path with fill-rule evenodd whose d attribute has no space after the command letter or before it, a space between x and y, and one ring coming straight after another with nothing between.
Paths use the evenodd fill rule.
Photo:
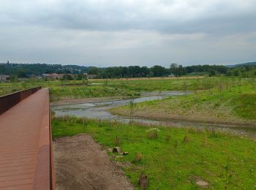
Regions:
<instances>
[{"instance_id":1,"label":"bare brown dirt path beside the bridge in the foreground","mask_svg":"<svg viewBox=\"0 0 256 190\"><path fill-rule=\"evenodd\" d=\"M53 142L56 189L133 189L124 172L87 134Z\"/></svg>"}]
</instances>

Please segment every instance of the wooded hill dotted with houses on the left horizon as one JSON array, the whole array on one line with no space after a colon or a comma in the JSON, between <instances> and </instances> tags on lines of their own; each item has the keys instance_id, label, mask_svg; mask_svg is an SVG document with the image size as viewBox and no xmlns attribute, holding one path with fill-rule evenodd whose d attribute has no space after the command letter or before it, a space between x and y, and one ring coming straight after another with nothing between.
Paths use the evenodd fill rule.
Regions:
<instances>
[{"instance_id":1,"label":"wooded hill dotted with houses on the left horizon","mask_svg":"<svg viewBox=\"0 0 256 190\"><path fill-rule=\"evenodd\" d=\"M42 75L43 73L71 73L87 72L89 66L61 65L61 64L0 64L0 75ZM26 77L24 76L24 77Z\"/></svg>"}]
</instances>

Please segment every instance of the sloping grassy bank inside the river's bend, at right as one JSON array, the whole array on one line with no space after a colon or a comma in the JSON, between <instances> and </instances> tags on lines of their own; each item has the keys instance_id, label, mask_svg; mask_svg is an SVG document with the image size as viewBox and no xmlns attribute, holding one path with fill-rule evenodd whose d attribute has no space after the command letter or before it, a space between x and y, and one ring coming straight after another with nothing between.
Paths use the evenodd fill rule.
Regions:
<instances>
[{"instance_id":1,"label":"sloping grassy bank inside the river's bend, at right","mask_svg":"<svg viewBox=\"0 0 256 190\"><path fill-rule=\"evenodd\" d=\"M255 107L255 80L243 80L238 83L224 80L214 88L195 91L195 94L136 104L133 115L155 119L255 124ZM110 112L130 115L128 105L115 107Z\"/></svg>"}]
</instances>

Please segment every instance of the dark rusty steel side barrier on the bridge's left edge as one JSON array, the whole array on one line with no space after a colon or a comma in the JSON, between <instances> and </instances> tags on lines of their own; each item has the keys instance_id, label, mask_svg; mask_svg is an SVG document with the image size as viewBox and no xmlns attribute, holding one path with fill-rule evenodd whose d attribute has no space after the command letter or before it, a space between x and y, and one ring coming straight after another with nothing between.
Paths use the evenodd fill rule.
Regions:
<instances>
[{"instance_id":1,"label":"dark rusty steel side barrier on the bridge's left edge","mask_svg":"<svg viewBox=\"0 0 256 190\"><path fill-rule=\"evenodd\" d=\"M15 106L15 104L18 104L18 102L26 99L26 97L34 94L41 88L41 86L38 86L36 88L30 88L25 91L18 91L12 94L7 94L5 96L0 96L0 115L9 110L11 107Z\"/></svg>"}]
</instances>

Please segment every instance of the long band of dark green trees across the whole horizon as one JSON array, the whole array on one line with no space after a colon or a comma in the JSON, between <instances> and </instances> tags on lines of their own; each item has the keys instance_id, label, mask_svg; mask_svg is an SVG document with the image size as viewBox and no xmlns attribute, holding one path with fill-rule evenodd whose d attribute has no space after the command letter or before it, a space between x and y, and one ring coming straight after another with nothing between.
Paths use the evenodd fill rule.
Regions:
<instances>
[{"instance_id":1,"label":"long band of dark green trees across the whole horizon","mask_svg":"<svg viewBox=\"0 0 256 190\"><path fill-rule=\"evenodd\" d=\"M85 73L95 75L99 78L121 78L121 77L166 77L166 76L235 76L255 77L256 64L223 66L223 65L193 65L182 66L170 64L168 68L160 65L155 66L78 66L61 64L0 64L0 75L15 75L16 77L30 77L31 75L42 75L43 73L62 73L78 75L78 79ZM68 75L65 75L68 76ZM68 78L68 77L67 77Z\"/></svg>"}]
</instances>

